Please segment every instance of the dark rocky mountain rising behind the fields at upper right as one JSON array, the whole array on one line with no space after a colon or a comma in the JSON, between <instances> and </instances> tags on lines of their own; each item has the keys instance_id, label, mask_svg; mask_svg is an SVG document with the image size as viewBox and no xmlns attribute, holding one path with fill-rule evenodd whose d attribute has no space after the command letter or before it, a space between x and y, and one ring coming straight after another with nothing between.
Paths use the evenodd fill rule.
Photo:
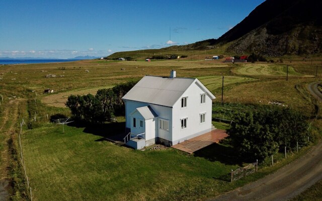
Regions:
<instances>
[{"instance_id":1,"label":"dark rocky mountain rising behind the fields at upper right","mask_svg":"<svg viewBox=\"0 0 322 201\"><path fill-rule=\"evenodd\" d=\"M282 3L280 3L282 2ZM321 53L322 2L268 0L258 6L217 43L232 42L228 51L268 56Z\"/></svg>"}]
</instances>

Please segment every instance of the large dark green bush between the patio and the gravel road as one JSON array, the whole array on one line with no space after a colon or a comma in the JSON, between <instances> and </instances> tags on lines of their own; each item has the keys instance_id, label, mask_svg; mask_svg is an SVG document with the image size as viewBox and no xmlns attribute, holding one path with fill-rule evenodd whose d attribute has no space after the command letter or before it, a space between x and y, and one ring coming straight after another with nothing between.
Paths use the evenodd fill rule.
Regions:
<instances>
[{"instance_id":1,"label":"large dark green bush between the patio and the gravel road","mask_svg":"<svg viewBox=\"0 0 322 201\"><path fill-rule=\"evenodd\" d=\"M266 108L235 113L227 133L240 157L263 160L285 146L306 144L306 118L289 108Z\"/></svg>"}]
</instances>

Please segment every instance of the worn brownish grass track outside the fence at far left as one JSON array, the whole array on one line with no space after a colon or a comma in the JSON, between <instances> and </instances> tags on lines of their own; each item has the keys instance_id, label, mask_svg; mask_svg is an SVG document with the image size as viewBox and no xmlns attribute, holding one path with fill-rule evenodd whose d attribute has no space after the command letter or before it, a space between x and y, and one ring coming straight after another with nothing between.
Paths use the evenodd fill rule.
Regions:
<instances>
[{"instance_id":1,"label":"worn brownish grass track outside the fence at far left","mask_svg":"<svg viewBox=\"0 0 322 201\"><path fill-rule=\"evenodd\" d=\"M0 121L0 198L1 200L9 200L13 194L10 184L9 167L12 160L10 155L9 140L10 135L15 133L18 120L19 101L11 101L8 105L3 106L3 112Z\"/></svg>"}]
</instances>

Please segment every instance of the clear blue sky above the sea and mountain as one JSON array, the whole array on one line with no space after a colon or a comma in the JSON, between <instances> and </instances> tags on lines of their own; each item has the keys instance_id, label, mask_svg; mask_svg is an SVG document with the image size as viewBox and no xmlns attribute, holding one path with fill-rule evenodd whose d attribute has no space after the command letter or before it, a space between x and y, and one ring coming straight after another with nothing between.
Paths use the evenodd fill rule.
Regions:
<instances>
[{"instance_id":1,"label":"clear blue sky above the sea and mountain","mask_svg":"<svg viewBox=\"0 0 322 201\"><path fill-rule=\"evenodd\" d=\"M0 1L0 57L99 57L190 44L220 37L263 2Z\"/></svg>"}]
</instances>

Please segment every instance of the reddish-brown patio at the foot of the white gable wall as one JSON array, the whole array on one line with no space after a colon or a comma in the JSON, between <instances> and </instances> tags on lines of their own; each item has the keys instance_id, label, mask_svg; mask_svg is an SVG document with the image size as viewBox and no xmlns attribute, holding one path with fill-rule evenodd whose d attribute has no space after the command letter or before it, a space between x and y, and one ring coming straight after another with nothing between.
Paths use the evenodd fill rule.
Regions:
<instances>
[{"instance_id":1,"label":"reddish-brown patio at the foot of the white gable wall","mask_svg":"<svg viewBox=\"0 0 322 201\"><path fill-rule=\"evenodd\" d=\"M198 151L199 149L202 149L213 143L219 142L219 140L227 136L228 135L224 130L215 129L210 131L209 133L205 133L195 138L191 138L172 147L192 154L193 152Z\"/></svg>"}]
</instances>

